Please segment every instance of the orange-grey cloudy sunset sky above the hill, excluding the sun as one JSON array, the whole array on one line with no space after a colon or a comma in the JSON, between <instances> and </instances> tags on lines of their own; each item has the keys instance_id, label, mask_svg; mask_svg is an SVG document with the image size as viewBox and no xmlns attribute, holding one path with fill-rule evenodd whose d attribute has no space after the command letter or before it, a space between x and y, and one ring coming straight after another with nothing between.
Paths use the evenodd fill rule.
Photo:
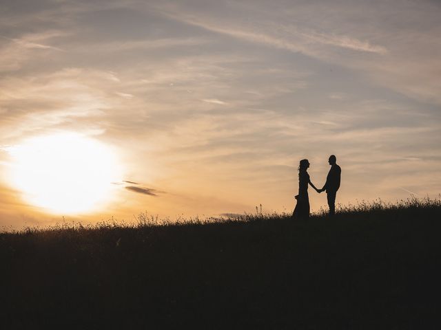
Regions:
<instances>
[{"instance_id":1,"label":"orange-grey cloudy sunset sky above the hill, excluding the sun","mask_svg":"<svg viewBox=\"0 0 441 330\"><path fill-rule=\"evenodd\" d=\"M331 154L337 203L441 192L440 1L2 0L0 17L3 227L292 212L300 159L321 188ZM63 132L121 163L99 210L11 182L11 150Z\"/></svg>"}]
</instances>

